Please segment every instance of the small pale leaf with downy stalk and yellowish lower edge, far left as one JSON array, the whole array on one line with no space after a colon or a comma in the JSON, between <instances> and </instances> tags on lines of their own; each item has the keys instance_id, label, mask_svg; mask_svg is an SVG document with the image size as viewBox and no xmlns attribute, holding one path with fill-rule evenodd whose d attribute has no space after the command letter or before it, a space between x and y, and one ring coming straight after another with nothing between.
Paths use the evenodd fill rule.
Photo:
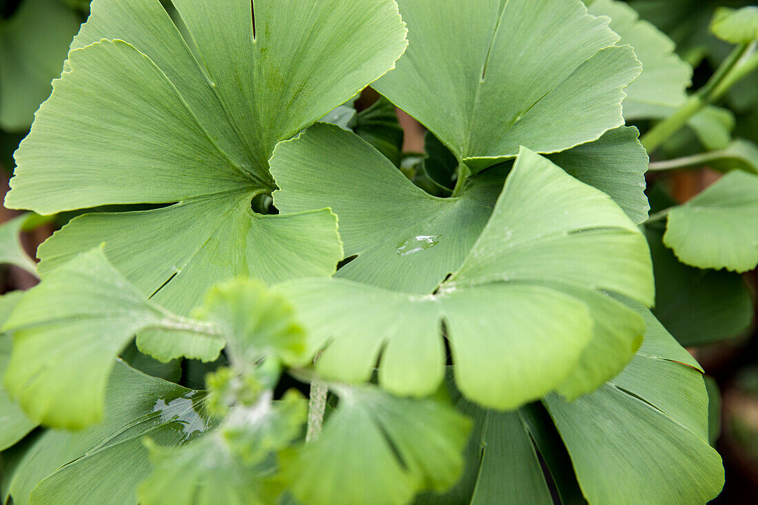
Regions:
<instances>
[{"instance_id":1,"label":"small pale leaf with downy stalk and yellowish lower edge, far left","mask_svg":"<svg viewBox=\"0 0 758 505\"><path fill-rule=\"evenodd\" d=\"M91 425L102 419L116 356L145 328L166 331L149 350L161 357L212 360L224 347L207 323L144 300L102 249L93 249L45 276L8 318L2 331L11 332L14 344L5 387L30 419L55 428Z\"/></svg>"}]
</instances>

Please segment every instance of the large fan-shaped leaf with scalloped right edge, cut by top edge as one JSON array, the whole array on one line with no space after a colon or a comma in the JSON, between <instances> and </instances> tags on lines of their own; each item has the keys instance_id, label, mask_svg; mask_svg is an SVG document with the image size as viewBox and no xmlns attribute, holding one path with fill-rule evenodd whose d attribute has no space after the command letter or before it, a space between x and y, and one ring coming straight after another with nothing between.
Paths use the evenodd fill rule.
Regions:
<instances>
[{"instance_id":1,"label":"large fan-shaped leaf with scalloped right edge, cut by top edge","mask_svg":"<svg viewBox=\"0 0 758 505\"><path fill-rule=\"evenodd\" d=\"M640 62L580 0L398 4L409 48L374 88L472 171L519 146L559 152L624 124L622 89Z\"/></svg>"}]
</instances>

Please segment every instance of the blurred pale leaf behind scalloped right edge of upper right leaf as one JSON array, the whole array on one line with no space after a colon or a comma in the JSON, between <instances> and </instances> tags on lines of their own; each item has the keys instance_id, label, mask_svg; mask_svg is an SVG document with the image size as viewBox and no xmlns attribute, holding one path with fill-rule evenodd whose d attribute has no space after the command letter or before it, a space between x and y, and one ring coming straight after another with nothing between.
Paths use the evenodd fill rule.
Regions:
<instances>
[{"instance_id":1,"label":"blurred pale leaf behind scalloped right edge of upper right leaf","mask_svg":"<svg viewBox=\"0 0 758 505\"><path fill-rule=\"evenodd\" d=\"M588 8L595 16L611 18L609 27L621 36L618 45L629 44L642 62L642 74L624 93L624 118L627 121L645 118L648 104L677 107L687 99L692 67L681 61L674 52L675 44L653 24L639 19L640 15L624 2L595 0Z\"/></svg>"}]
</instances>

